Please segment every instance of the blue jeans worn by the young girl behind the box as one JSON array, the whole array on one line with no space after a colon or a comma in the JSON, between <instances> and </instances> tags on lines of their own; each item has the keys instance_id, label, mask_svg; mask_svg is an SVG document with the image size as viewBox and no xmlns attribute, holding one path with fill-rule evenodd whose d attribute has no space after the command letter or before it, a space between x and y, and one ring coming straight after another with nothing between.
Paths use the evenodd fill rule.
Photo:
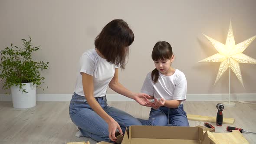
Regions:
<instances>
[{"instance_id":1,"label":"blue jeans worn by the young girl behind the box","mask_svg":"<svg viewBox=\"0 0 256 144\"><path fill-rule=\"evenodd\" d=\"M187 113L183 109L183 104L178 108L167 108L161 106L153 109L149 113L148 120L138 119L142 125L161 125L161 126L186 126L189 127Z\"/></svg>"}]
</instances>

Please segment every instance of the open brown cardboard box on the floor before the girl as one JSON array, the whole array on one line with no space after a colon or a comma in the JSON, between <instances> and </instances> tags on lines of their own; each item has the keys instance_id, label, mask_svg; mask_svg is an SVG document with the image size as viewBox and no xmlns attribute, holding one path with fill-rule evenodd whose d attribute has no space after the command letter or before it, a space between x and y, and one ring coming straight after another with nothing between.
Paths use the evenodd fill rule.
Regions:
<instances>
[{"instance_id":1,"label":"open brown cardboard box on the floor before the girl","mask_svg":"<svg viewBox=\"0 0 256 144\"><path fill-rule=\"evenodd\" d=\"M198 127L132 125L121 144L210 144L210 139Z\"/></svg>"}]
</instances>

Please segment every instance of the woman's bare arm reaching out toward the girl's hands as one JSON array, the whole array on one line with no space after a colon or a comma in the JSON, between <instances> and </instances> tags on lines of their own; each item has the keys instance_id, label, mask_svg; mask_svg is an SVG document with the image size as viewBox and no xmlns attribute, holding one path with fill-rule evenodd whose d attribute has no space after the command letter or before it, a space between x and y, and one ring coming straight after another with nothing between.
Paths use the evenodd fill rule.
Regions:
<instances>
[{"instance_id":1,"label":"woman's bare arm reaching out toward the girl's hands","mask_svg":"<svg viewBox=\"0 0 256 144\"><path fill-rule=\"evenodd\" d=\"M117 92L118 94L124 95L128 98L134 99L137 101L140 105L147 105L150 103L148 98L151 98L149 95L144 93L133 93L129 91L127 88L125 88L121 83L119 83L118 80L118 68L115 69L115 74L112 80L108 84L109 88L111 88L113 91Z\"/></svg>"}]
</instances>

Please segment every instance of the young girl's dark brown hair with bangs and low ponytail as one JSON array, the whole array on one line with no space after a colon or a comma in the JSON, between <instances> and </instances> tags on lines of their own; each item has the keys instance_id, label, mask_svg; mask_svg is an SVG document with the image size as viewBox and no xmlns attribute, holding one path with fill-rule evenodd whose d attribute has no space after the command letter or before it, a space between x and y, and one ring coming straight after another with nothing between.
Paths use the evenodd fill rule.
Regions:
<instances>
[{"instance_id":1,"label":"young girl's dark brown hair with bangs and low ponytail","mask_svg":"<svg viewBox=\"0 0 256 144\"><path fill-rule=\"evenodd\" d=\"M161 60L171 59L172 55L173 53L172 53L172 47L170 43L165 41L159 41L154 45L151 57L154 61L158 61L159 59ZM151 79L154 82L154 84L158 82L158 77L159 77L158 69L154 69L151 72Z\"/></svg>"}]
</instances>

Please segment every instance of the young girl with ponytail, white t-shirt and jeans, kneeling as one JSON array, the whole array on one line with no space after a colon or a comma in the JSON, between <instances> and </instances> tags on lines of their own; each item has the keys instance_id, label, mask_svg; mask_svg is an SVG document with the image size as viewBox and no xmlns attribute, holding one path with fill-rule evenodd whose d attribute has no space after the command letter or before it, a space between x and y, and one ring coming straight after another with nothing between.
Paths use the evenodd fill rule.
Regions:
<instances>
[{"instance_id":1,"label":"young girl with ponytail, white t-shirt and jeans, kneeling","mask_svg":"<svg viewBox=\"0 0 256 144\"><path fill-rule=\"evenodd\" d=\"M183 110L186 100L187 80L183 72L171 67L174 61L172 47L165 41L155 44L152 59L156 69L145 78L141 92L154 98L148 120L143 125L189 126Z\"/></svg>"}]
</instances>

